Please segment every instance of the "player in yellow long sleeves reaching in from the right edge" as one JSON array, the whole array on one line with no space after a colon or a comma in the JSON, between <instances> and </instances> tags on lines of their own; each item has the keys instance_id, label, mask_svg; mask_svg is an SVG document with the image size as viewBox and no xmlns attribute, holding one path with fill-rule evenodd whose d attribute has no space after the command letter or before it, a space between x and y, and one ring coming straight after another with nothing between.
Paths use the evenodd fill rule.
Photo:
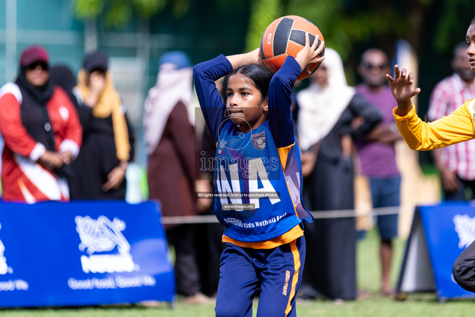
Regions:
<instances>
[{"instance_id":1,"label":"player in yellow long sleeves reaching in from the right edge","mask_svg":"<svg viewBox=\"0 0 475 317\"><path fill-rule=\"evenodd\" d=\"M475 18L470 22L466 42L467 63L470 63L472 71L475 72ZM398 65L394 67L394 74L394 78L386 75L392 95L398 102L394 117L399 131L411 149L430 150L475 138L475 99L467 100L451 115L425 123L418 118L411 103L411 98L420 92L419 88L412 87L414 74L408 75L406 69L399 71ZM475 243L468 246L456 259L453 273L454 279L461 287L475 291Z\"/></svg>"}]
</instances>

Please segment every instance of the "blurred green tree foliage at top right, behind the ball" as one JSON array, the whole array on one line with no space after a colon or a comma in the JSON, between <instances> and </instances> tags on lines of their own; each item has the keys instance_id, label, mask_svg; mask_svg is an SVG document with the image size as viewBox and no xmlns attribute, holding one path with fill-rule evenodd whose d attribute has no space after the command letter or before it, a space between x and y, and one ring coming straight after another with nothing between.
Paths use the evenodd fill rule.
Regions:
<instances>
[{"instance_id":1,"label":"blurred green tree foliage at top right, behind the ball","mask_svg":"<svg viewBox=\"0 0 475 317\"><path fill-rule=\"evenodd\" d=\"M299 15L320 29L328 47L346 60L355 44L368 41L393 45L405 38L418 51L428 33L426 20L437 13L434 48L444 52L453 45L454 30L468 20L460 13L473 7L473 0L256 0L246 38L247 51L257 48L266 26L283 15ZM271 6L274 9L271 9ZM474 14L473 11L472 14Z\"/></svg>"}]
</instances>

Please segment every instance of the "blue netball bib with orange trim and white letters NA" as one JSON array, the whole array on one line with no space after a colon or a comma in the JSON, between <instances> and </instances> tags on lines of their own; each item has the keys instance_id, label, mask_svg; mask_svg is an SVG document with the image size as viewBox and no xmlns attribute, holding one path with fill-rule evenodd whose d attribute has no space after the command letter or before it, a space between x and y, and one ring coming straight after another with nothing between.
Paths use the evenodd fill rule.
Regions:
<instances>
[{"instance_id":1,"label":"blue netball bib with orange trim and white letters NA","mask_svg":"<svg viewBox=\"0 0 475 317\"><path fill-rule=\"evenodd\" d=\"M277 149L268 121L241 133L226 118L218 132L213 165L215 213L229 238L270 240L301 220L313 221L302 203L297 143Z\"/></svg>"}]
</instances>

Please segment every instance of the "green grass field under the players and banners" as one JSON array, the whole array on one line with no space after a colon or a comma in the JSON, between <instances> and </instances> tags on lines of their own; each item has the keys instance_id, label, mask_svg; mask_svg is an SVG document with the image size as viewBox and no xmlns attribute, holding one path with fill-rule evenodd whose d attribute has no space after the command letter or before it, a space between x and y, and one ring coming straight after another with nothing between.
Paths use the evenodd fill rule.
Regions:
<instances>
[{"instance_id":1,"label":"green grass field under the players and banners","mask_svg":"<svg viewBox=\"0 0 475 317\"><path fill-rule=\"evenodd\" d=\"M399 266L404 251L404 241L396 241L393 282L399 274ZM345 302L341 306L330 300L304 301L297 304L297 316L322 317L468 317L475 311L474 300L449 300L445 304L437 303L435 294L409 294L404 301L381 298L379 288L378 240L374 231L358 242L358 283L359 287L373 293L365 300ZM257 301L254 302L256 316ZM85 307L85 308L40 308L0 310L0 317L212 317L212 305L186 306L180 300L170 309L167 304L157 308L137 306L121 307Z\"/></svg>"}]
</instances>

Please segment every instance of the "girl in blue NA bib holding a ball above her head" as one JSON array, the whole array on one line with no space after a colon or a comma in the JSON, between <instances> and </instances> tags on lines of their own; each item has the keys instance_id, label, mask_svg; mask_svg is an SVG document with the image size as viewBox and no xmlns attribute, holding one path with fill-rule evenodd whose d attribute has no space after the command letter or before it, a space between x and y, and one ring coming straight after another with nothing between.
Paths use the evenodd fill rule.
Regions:
<instances>
[{"instance_id":1,"label":"girl in blue NA bib holding a ball above her head","mask_svg":"<svg viewBox=\"0 0 475 317\"><path fill-rule=\"evenodd\" d=\"M323 61L323 46L306 45L272 74L259 50L196 65L193 78L206 124L217 144L215 213L226 227L216 316L295 316L305 259L300 157L290 112L297 77ZM228 76L223 104L214 81Z\"/></svg>"}]
</instances>

